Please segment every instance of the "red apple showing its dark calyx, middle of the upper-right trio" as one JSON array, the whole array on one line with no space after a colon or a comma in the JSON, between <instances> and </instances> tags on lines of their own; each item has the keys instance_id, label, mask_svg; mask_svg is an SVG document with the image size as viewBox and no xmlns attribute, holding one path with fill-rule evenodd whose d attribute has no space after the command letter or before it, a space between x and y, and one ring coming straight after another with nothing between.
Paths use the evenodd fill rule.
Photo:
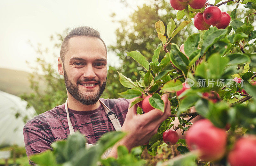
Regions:
<instances>
[{"instance_id":1,"label":"red apple showing its dark calyx, middle of the upper-right trio","mask_svg":"<svg viewBox=\"0 0 256 166\"><path fill-rule=\"evenodd\" d=\"M220 22L221 11L217 6L209 6L204 10L203 16L208 25L215 25Z\"/></svg>"}]
</instances>

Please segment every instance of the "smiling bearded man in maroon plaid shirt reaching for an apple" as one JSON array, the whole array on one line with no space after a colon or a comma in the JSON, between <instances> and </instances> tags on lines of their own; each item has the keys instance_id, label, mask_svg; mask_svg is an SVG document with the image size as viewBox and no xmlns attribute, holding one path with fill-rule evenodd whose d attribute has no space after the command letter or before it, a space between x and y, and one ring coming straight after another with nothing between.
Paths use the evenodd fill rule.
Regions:
<instances>
[{"instance_id":1,"label":"smiling bearded man in maroon plaid shirt reaching for an apple","mask_svg":"<svg viewBox=\"0 0 256 166\"><path fill-rule=\"evenodd\" d=\"M128 133L109 153L108 156L113 157L116 157L119 145L131 150L147 143L171 114L166 94L162 96L165 112L155 109L143 115L137 115L137 107L130 108L127 99L99 100L107 79L107 47L99 32L90 27L75 28L65 37L58 58L58 70L64 76L68 108L65 111L65 104L58 105L27 122L23 134L28 156L52 150L52 142L66 140L71 133L68 118L74 131L84 134L89 144L95 144L102 134L115 130L100 100L115 112L122 131Z\"/></svg>"}]
</instances>

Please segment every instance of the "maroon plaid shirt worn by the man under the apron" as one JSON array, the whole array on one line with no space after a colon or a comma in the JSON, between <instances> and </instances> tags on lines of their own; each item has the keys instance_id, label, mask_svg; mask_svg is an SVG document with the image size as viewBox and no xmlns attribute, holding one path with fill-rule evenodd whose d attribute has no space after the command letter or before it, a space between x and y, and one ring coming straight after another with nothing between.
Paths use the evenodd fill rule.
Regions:
<instances>
[{"instance_id":1,"label":"maroon plaid shirt worn by the man under the apron","mask_svg":"<svg viewBox=\"0 0 256 166\"><path fill-rule=\"evenodd\" d=\"M116 113L121 126L123 126L129 100L124 98L100 99L111 111ZM27 156L42 153L47 149L52 150L52 142L66 140L70 135L64 105L58 105L50 111L41 113L26 123L23 135ZM92 111L68 109L68 112L74 131L84 134L89 144L95 144L104 133L115 130L102 105ZM29 163L34 164L31 161Z\"/></svg>"}]
</instances>

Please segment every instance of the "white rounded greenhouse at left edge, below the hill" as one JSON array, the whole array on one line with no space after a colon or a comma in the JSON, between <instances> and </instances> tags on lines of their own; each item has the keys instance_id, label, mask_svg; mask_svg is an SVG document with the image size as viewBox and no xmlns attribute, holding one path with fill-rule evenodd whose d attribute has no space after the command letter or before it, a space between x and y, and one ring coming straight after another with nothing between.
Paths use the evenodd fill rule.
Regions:
<instances>
[{"instance_id":1,"label":"white rounded greenhouse at left edge, below the hill","mask_svg":"<svg viewBox=\"0 0 256 166\"><path fill-rule=\"evenodd\" d=\"M25 147L23 127L35 116L33 107L20 97L0 91L0 147L18 145Z\"/></svg>"}]
</instances>

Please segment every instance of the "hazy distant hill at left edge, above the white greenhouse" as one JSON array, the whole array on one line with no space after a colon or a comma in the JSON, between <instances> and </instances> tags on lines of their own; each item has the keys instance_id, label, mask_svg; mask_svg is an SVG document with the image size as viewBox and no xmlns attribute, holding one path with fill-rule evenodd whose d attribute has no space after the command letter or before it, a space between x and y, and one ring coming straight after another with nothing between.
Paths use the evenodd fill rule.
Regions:
<instances>
[{"instance_id":1,"label":"hazy distant hill at left edge, above the white greenhouse","mask_svg":"<svg viewBox=\"0 0 256 166\"><path fill-rule=\"evenodd\" d=\"M29 74L25 71L0 68L0 90L15 96L31 93Z\"/></svg>"}]
</instances>

